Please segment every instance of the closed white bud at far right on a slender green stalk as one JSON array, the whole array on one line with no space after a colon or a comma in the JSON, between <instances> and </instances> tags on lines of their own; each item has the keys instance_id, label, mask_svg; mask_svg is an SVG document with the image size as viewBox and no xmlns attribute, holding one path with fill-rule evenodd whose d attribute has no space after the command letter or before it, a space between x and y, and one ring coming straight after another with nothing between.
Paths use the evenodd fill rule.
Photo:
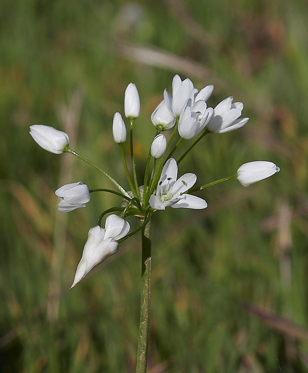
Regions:
<instances>
[{"instance_id":1,"label":"closed white bud at far right on a slender green stalk","mask_svg":"<svg viewBox=\"0 0 308 373\"><path fill-rule=\"evenodd\" d=\"M280 168L273 162L255 161L242 164L239 167L237 175L238 181L243 186L249 186L257 181L266 179L274 173L279 172Z\"/></svg>"}]
</instances>

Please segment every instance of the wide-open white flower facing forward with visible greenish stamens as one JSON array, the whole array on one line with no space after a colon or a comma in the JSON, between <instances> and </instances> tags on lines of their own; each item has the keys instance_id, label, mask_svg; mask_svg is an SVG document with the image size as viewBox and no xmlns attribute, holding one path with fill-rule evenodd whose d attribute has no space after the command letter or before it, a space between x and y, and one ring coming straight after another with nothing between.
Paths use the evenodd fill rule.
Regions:
<instances>
[{"instance_id":1,"label":"wide-open white flower facing forward with visible greenish stamens","mask_svg":"<svg viewBox=\"0 0 308 373\"><path fill-rule=\"evenodd\" d=\"M191 194L183 194L197 181L194 173L185 173L178 180L177 164L174 158L167 160L157 184L156 194L152 194L149 203L153 209L164 210L171 206L174 209L205 209L207 203L202 198ZM154 192L155 193L155 192Z\"/></svg>"}]
</instances>

